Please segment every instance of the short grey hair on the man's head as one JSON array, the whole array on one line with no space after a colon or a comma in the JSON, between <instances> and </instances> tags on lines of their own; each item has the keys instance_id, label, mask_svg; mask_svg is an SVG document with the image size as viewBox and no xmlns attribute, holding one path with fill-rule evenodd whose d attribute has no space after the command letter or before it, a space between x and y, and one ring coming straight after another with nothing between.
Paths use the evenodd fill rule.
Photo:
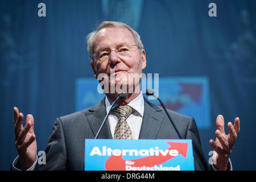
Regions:
<instances>
[{"instance_id":1,"label":"short grey hair on the man's head","mask_svg":"<svg viewBox=\"0 0 256 182\"><path fill-rule=\"evenodd\" d=\"M87 35L86 39L87 39L87 50L89 52L90 55L90 59L92 59L93 57L93 53L94 53L94 39L97 35L97 33L106 27L118 27L118 28L126 28L127 30L129 30L131 32L131 34L133 34L135 42L141 52L141 50L144 48L143 44L141 42L141 36L139 36L139 34L133 30L133 28L131 28L130 26L128 26L125 23L122 22L102 22L96 30L94 30L93 32L90 32L90 34Z\"/></svg>"}]
</instances>

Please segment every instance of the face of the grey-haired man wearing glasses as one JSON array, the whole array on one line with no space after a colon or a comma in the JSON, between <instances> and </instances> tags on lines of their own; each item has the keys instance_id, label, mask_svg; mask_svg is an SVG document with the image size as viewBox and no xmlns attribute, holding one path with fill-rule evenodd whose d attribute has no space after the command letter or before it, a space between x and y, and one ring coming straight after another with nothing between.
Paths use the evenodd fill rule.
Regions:
<instances>
[{"instance_id":1,"label":"face of the grey-haired man wearing glasses","mask_svg":"<svg viewBox=\"0 0 256 182\"><path fill-rule=\"evenodd\" d=\"M101 50L111 51L118 49L120 46L132 46L135 44L133 34L126 28L107 27L97 33L94 39L94 52L97 54ZM138 46L133 48L135 51L129 56L121 56L117 52L111 51L108 59L91 61L94 77L97 78L100 73L106 73L110 86L117 84L127 85L127 89L131 85L133 87L138 86L139 81L138 79L134 81L133 76L141 75L142 69L146 67L146 55L144 50L140 53ZM112 74L110 74L110 70Z\"/></svg>"}]
</instances>

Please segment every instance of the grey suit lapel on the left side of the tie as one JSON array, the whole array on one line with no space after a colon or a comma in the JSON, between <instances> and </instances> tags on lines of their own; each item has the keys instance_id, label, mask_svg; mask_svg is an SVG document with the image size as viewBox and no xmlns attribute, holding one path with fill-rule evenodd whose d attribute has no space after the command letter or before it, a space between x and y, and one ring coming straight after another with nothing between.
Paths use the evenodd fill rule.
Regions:
<instances>
[{"instance_id":1,"label":"grey suit lapel on the left side of the tie","mask_svg":"<svg viewBox=\"0 0 256 182\"><path fill-rule=\"evenodd\" d=\"M94 107L91 107L89 109L88 114L86 114L90 128L93 131L94 137L96 136L98 129L100 129L100 126L105 116L106 116L106 105L105 105L105 98L104 98L99 104L97 104ZM103 126L100 135L98 135L98 138L112 139L112 134L110 131L108 120L105 122L105 125Z\"/></svg>"}]
</instances>

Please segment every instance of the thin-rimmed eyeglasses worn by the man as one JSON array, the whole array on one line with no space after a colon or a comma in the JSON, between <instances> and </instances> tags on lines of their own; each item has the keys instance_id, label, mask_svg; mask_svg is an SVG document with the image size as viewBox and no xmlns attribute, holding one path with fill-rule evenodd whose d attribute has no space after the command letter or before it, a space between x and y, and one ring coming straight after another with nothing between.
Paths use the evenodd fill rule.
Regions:
<instances>
[{"instance_id":1,"label":"thin-rimmed eyeglasses worn by the man","mask_svg":"<svg viewBox=\"0 0 256 182\"><path fill-rule=\"evenodd\" d=\"M131 46L121 46L118 49L113 50L103 50L97 53L93 54L93 60L94 61L105 61L109 60L109 55L112 51L115 51L119 56L131 56L136 50L137 45L131 45Z\"/></svg>"}]
</instances>

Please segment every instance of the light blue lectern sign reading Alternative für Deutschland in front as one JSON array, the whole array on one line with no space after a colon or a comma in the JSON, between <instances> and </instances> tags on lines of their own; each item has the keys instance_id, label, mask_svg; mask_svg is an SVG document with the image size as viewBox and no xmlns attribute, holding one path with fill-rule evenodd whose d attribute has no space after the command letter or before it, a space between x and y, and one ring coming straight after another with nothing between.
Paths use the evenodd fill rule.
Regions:
<instances>
[{"instance_id":1,"label":"light blue lectern sign reading Alternative f\u00fcr Deutschland in front","mask_svg":"<svg viewBox=\"0 0 256 182\"><path fill-rule=\"evenodd\" d=\"M193 171L191 139L85 139L85 171Z\"/></svg>"}]
</instances>

